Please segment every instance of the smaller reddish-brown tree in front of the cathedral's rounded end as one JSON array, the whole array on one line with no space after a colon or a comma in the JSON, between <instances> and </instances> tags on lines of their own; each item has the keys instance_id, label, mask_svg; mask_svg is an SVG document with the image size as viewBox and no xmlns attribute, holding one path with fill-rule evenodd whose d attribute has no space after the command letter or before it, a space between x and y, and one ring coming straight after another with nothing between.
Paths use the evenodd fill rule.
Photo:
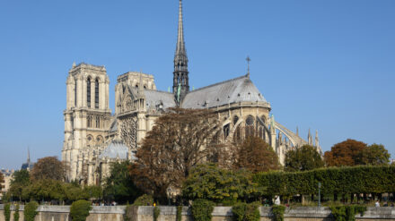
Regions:
<instances>
[{"instance_id":1,"label":"smaller reddish-brown tree in front of the cathedral's rounded end","mask_svg":"<svg viewBox=\"0 0 395 221\"><path fill-rule=\"evenodd\" d=\"M280 168L275 151L259 137L250 136L236 149L236 168L245 168L252 173Z\"/></svg>"}]
</instances>

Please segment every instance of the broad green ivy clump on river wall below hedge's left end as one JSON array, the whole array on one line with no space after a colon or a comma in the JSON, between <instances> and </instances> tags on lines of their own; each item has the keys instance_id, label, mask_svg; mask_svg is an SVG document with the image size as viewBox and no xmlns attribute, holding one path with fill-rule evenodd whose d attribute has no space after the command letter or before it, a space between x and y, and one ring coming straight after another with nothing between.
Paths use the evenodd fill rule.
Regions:
<instances>
[{"instance_id":1,"label":"broad green ivy clump on river wall below hedge's left end","mask_svg":"<svg viewBox=\"0 0 395 221\"><path fill-rule=\"evenodd\" d=\"M259 221L259 202L247 204L245 202L237 203L233 206L232 212L235 221Z\"/></svg>"}]
</instances>

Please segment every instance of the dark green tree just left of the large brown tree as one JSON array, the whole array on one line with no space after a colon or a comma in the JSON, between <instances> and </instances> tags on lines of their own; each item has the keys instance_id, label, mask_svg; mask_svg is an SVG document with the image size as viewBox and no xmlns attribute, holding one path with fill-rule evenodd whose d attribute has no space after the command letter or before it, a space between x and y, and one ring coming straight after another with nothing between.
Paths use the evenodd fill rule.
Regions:
<instances>
[{"instance_id":1,"label":"dark green tree just left of the large brown tree","mask_svg":"<svg viewBox=\"0 0 395 221\"><path fill-rule=\"evenodd\" d=\"M110 175L105 179L104 195L106 198L116 200L119 203L133 202L141 195L135 185L134 177L129 174L129 161L113 163L110 166Z\"/></svg>"}]
</instances>

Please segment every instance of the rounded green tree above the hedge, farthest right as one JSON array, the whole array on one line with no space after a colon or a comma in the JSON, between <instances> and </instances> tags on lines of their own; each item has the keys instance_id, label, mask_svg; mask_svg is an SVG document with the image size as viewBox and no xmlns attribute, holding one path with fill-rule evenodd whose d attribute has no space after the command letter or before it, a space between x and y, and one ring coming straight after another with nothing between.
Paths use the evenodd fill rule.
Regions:
<instances>
[{"instance_id":1,"label":"rounded green tree above the hedge, farthest right","mask_svg":"<svg viewBox=\"0 0 395 221\"><path fill-rule=\"evenodd\" d=\"M362 162L364 165L388 165L391 155L382 144L369 145L362 151Z\"/></svg>"}]
</instances>

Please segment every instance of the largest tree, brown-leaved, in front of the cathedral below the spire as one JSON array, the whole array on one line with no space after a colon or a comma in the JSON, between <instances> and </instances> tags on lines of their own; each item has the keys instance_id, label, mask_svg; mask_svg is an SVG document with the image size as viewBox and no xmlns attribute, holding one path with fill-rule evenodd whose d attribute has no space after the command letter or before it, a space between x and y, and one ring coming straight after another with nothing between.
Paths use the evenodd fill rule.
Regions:
<instances>
[{"instance_id":1,"label":"largest tree, brown-leaved, in front of the cathedral below the spire","mask_svg":"<svg viewBox=\"0 0 395 221\"><path fill-rule=\"evenodd\" d=\"M217 116L206 109L171 108L156 120L130 166L137 186L160 197L169 187L180 188L193 166L213 157L220 130Z\"/></svg>"}]
</instances>

